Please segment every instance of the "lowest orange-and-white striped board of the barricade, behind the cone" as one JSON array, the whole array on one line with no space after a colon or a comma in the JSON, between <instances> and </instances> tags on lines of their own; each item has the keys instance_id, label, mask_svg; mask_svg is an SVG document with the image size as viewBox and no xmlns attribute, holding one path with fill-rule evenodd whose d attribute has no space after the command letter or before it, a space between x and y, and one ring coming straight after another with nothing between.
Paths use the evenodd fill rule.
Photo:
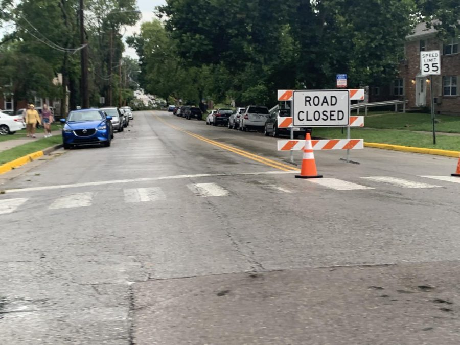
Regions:
<instances>
[{"instance_id":1,"label":"lowest orange-and-white striped board of the barricade, behind the cone","mask_svg":"<svg viewBox=\"0 0 460 345\"><path fill-rule=\"evenodd\" d=\"M279 140L278 151L303 150L305 140ZM326 139L312 140L313 150L362 150L364 149L363 139Z\"/></svg>"}]
</instances>

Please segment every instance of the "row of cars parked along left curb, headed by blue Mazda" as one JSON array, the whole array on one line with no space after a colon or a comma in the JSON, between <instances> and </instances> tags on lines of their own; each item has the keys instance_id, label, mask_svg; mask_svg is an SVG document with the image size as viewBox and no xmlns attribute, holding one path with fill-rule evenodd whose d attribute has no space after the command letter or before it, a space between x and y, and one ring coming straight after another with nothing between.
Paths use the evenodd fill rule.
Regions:
<instances>
[{"instance_id":1,"label":"row of cars parked along left curb, headed by blue Mazda","mask_svg":"<svg viewBox=\"0 0 460 345\"><path fill-rule=\"evenodd\" d=\"M64 149L78 145L101 144L110 146L113 132L123 132L133 120L130 107L89 108L73 110L67 119L61 119Z\"/></svg>"}]
</instances>

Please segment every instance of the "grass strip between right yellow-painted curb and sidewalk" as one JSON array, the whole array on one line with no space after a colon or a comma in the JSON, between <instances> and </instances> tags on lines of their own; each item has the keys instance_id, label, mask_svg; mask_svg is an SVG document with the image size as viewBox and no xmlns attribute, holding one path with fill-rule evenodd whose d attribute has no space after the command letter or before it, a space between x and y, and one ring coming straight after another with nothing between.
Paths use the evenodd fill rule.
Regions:
<instances>
[{"instance_id":1,"label":"grass strip between right yellow-painted curb and sidewalk","mask_svg":"<svg viewBox=\"0 0 460 345\"><path fill-rule=\"evenodd\" d=\"M346 139L347 130L342 134L340 128L313 128L312 136L329 139ZM367 143L393 144L402 146L423 147L430 149L460 151L460 136L437 135L437 144L433 145L430 134L413 133L399 130L373 130L351 128L352 139L364 139Z\"/></svg>"}]
</instances>

